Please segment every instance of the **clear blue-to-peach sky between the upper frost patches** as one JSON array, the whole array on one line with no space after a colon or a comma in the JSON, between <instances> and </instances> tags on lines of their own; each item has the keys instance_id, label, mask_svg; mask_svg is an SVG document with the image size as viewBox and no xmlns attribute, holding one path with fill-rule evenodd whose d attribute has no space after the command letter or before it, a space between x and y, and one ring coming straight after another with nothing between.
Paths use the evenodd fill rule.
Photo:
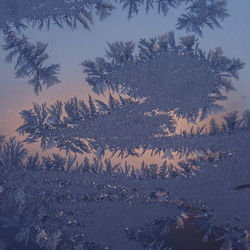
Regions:
<instances>
[{"instance_id":1,"label":"clear blue-to-peach sky between the upper frost patches","mask_svg":"<svg viewBox=\"0 0 250 250\"><path fill-rule=\"evenodd\" d=\"M240 80L235 83L238 91L230 94L227 101L228 110L243 111L250 109L250 1L230 0L228 8L230 17L222 23L223 29L205 28L199 42L200 47L206 51L221 46L226 56L240 58L245 62L245 68L240 72ZM27 84L28 79L15 79L14 64L6 64L6 52L0 50L0 134L7 137L17 135L14 131L22 122L19 112L31 109L34 101L39 104L53 104L58 99L67 100L74 96L87 98L91 88L85 81L81 62L103 56L107 42L138 42L141 38L155 37L175 30L176 20L181 13L181 9L170 9L167 17L164 17L156 10L146 14L144 9L140 9L139 15L128 20L127 13L121 11L118 6L118 9L104 21L95 18L91 31L80 25L73 31L69 27L60 29L56 26L52 26L49 31L46 28L42 31L36 28L26 30L25 35L31 42L48 43L47 65L60 63L61 83L48 90L44 88L43 92L36 96L33 88ZM176 37L186 35L185 31L175 33ZM0 37L0 45L2 44L3 40Z\"/></svg>"}]
</instances>

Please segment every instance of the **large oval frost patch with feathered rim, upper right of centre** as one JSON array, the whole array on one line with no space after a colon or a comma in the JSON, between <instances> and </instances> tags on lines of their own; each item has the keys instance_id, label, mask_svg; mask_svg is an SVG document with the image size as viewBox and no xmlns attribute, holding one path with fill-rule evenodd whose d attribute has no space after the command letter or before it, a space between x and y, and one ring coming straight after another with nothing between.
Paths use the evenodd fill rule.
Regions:
<instances>
[{"instance_id":1,"label":"large oval frost patch with feathered rim, upper right of centre","mask_svg":"<svg viewBox=\"0 0 250 250\"><path fill-rule=\"evenodd\" d=\"M157 108L174 109L185 117L192 114L190 120L199 110L203 110L203 116L221 111L215 102L227 98L222 90L234 89L231 78L237 79L244 66L239 59L223 56L221 48L206 55L194 36L181 37L177 45L173 32L141 39L139 55L134 54L132 42L108 46L107 59L82 63L93 91L104 94L107 89L119 93L126 90L130 96L146 97L146 102Z\"/></svg>"}]
</instances>

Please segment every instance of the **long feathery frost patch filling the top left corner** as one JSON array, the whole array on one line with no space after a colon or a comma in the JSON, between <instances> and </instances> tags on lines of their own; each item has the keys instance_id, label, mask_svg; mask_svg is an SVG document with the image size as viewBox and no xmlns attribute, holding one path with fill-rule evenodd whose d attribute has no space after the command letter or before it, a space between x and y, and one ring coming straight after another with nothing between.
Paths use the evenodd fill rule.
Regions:
<instances>
[{"instance_id":1,"label":"long feathery frost patch filling the top left corner","mask_svg":"<svg viewBox=\"0 0 250 250\"><path fill-rule=\"evenodd\" d=\"M25 6L25 9L23 8ZM18 11L18 10L22 11ZM1 19L0 27L6 24L11 25L17 30L25 29L25 23L32 23L38 29L44 26L47 29L52 24L62 28L67 25L75 29L79 23L86 29L90 29L90 24L93 23L93 13L95 12L101 20L109 16L114 9L114 6L109 1L104 0L79 0L79 1L46 1L44 3L33 1L23 1L22 4L14 1L8 5L3 18ZM15 17L11 13L15 13Z\"/></svg>"}]
</instances>

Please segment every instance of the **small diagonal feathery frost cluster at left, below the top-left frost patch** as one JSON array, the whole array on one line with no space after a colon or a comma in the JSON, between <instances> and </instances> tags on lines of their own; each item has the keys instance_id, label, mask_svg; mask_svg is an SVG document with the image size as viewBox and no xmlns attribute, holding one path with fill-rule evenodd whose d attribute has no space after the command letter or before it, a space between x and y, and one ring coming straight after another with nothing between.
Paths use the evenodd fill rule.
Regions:
<instances>
[{"instance_id":1,"label":"small diagonal feathery frost cluster at left, below the top-left frost patch","mask_svg":"<svg viewBox=\"0 0 250 250\"><path fill-rule=\"evenodd\" d=\"M34 45L28 42L24 35L19 38L10 27L4 29L4 35L6 44L3 49L9 51L6 62L12 62L13 57L17 57L16 77L32 77L29 84L34 87L37 95L42 91L43 85L49 88L60 82L56 76L60 69L59 64L43 66L44 61L48 59L47 44L37 42Z\"/></svg>"}]
</instances>

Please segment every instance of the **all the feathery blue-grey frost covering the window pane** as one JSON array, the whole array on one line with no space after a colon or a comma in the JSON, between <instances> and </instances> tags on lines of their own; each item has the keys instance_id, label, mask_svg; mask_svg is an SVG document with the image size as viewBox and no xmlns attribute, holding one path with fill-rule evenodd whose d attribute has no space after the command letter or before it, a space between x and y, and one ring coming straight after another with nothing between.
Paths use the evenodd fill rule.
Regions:
<instances>
[{"instance_id":1,"label":"all the feathery blue-grey frost covering the window pane","mask_svg":"<svg viewBox=\"0 0 250 250\"><path fill-rule=\"evenodd\" d=\"M30 24L90 30L95 16L103 20L115 7L129 19L141 9L167 15L184 7L176 28L202 36L206 26L222 27L226 5L4 0L5 60L16 59L15 76L28 78L38 95L60 84L60 66L45 65L47 43L23 35ZM128 40L109 41L103 57L79 62L93 90L88 98L34 97L20 110L22 141L0 136L0 249L179 249L176 241L195 230L193 249L250 249L250 111L220 123L215 116L244 63L221 47L202 50L192 34ZM26 146L37 142L43 153L32 155ZM66 156L44 155L54 148ZM148 163L148 152L160 163ZM138 160L121 164L129 157Z\"/></svg>"}]
</instances>

